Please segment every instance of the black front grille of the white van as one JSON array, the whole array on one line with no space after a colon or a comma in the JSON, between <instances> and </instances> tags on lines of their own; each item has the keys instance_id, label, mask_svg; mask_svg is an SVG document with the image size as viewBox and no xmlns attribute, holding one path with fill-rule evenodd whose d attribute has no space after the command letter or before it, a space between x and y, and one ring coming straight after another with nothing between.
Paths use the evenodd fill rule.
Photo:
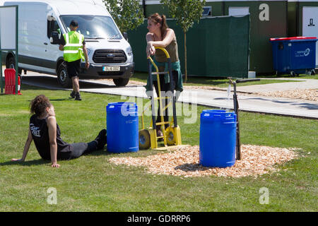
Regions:
<instances>
[{"instance_id":1,"label":"black front grille of the white van","mask_svg":"<svg viewBox=\"0 0 318 226\"><path fill-rule=\"evenodd\" d=\"M100 64L124 63L126 60L125 52L120 49L98 49L93 55L93 61Z\"/></svg>"}]
</instances>

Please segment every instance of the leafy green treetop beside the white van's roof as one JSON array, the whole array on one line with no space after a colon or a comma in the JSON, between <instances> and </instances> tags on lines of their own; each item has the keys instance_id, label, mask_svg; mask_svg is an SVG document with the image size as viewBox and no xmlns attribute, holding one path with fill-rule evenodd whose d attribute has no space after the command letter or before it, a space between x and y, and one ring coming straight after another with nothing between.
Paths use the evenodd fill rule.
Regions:
<instances>
[{"instance_id":1,"label":"leafy green treetop beside the white van's roof","mask_svg":"<svg viewBox=\"0 0 318 226\"><path fill-rule=\"evenodd\" d=\"M134 30L143 23L138 0L102 0L121 32Z\"/></svg>"}]
</instances>

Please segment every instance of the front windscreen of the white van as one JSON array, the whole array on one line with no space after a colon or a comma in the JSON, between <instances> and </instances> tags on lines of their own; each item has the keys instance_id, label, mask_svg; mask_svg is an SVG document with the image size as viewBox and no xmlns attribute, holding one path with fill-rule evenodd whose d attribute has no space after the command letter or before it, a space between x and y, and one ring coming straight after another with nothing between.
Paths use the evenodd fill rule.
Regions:
<instances>
[{"instance_id":1,"label":"front windscreen of the white van","mask_svg":"<svg viewBox=\"0 0 318 226\"><path fill-rule=\"evenodd\" d=\"M71 30L69 28L71 20L77 20L77 32L84 35L86 39L122 39L122 35L109 16L61 16L61 21L68 32Z\"/></svg>"}]
</instances>

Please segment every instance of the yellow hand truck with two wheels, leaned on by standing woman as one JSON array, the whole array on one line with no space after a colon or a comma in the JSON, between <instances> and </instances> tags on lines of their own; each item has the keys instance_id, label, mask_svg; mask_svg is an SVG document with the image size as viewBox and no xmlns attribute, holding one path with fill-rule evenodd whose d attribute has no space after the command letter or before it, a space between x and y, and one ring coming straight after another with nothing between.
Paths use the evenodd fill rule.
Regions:
<instances>
[{"instance_id":1,"label":"yellow hand truck with two wheels, leaned on by standing woman","mask_svg":"<svg viewBox=\"0 0 318 226\"><path fill-rule=\"evenodd\" d=\"M159 72L158 66L155 65L155 62L153 62L153 59L151 57L148 57L148 76L149 76L149 83L151 84L150 89L150 99L151 99L151 125L148 129L145 129L145 124L143 121L143 114L146 112L146 109L143 109L143 112L141 114L141 121L142 121L142 129L139 131L139 148L140 149L155 149L158 148L158 140L160 138L163 138L163 142L165 144L165 147L167 145L181 145L181 131L177 124L177 114L176 114L176 96L175 92L172 87L172 67L171 67L171 60L170 56L164 48L161 47L155 47L155 49L160 49L165 53L165 56L167 57L167 65L168 65L168 71ZM152 71L152 66L155 68L155 72ZM162 97L161 95L161 89L160 89L160 78L159 76L164 76L165 74L169 74L170 78L170 95L167 95L165 97ZM153 78L152 75L157 75L157 82L158 82L158 97L154 97L153 95ZM168 99L171 100L168 102L167 106L163 106L163 100ZM159 100L159 108L160 108L160 121L155 121L155 100ZM163 117L163 112L167 107L170 107L172 103L172 109L173 109L173 117L171 121L165 121ZM169 124L167 129L165 129L165 124ZM163 136L157 136L157 130L156 126L160 125L161 131L163 131ZM152 126L152 127L151 127Z\"/></svg>"}]
</instances>

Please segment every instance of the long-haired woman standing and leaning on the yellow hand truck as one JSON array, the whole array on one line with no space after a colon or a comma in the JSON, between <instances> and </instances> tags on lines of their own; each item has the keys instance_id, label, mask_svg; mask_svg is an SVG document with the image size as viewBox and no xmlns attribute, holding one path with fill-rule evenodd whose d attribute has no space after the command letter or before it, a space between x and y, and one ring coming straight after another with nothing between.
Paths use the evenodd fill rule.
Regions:
<instances>
[{"instance_id":1,"label":"long-haired woman standing and leaning on the yellow hand truck","mask_svg":"<svg viewBox=\"0 0 318 226\"><path fill-rule=\"evenodd\" d=\"M167 20L165 15L160 16L158 13L148 17L148 26L147 29L149 32L146 35L147 47L146 54L147 57L155 55L154 62L158 66L159 71L168 71L167 69L167 59L165 53L161 50L155 49L155 47L165 48L170 55L171 66L172 66L172 78L173 81L170 81L169 75L165 74L160 75L160 90L167 92L170 90L170 83L172 83L172 89L182 92L182 73L180 69L180 62L178 57L178 45L177 38L175 37L175 31L167 26ZM148 78L149 79L149 78ZM147 81L146 91L150 90L150 86L155 85L155 92L158 94L158 82L157 76L153 75L153 84L149 84ZM172 91L173 91L172 90ZM164 96L164 95L162 95ZM163 103L163 107L167 105L167 99ZM169 115L167 109L164 112L165 121L169 121ZM158 109L158 117L156 122L160 121L160 109ZM167 124L165 128L167 129ZM163 132L160 131L160 126L157 126L157 136L163 136Z\"/></svg>"}]
</instances>

